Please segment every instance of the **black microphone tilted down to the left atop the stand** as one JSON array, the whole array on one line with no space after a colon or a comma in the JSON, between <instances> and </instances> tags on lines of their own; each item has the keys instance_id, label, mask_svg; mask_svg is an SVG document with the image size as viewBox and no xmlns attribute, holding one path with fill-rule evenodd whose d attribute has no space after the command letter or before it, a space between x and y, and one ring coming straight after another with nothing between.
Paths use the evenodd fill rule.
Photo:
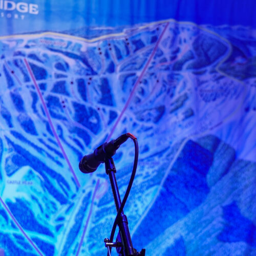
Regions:
<instances>
[{"instance_id":1,"label":"black microphone tilted down to the left atop the stand","mask_svg":"<svg viewBox=\"0 0 256 256\"><path fill-rule=\"evenodd\" d=\"M131 137L131 134L125 133L115 140L103 143L92 154L84 156L79 162L80 171L85 174L95 172L101 163L104 163L107 158L111 158L116 154L118 147L129 137Z\"/></svg>"}]
</instances>

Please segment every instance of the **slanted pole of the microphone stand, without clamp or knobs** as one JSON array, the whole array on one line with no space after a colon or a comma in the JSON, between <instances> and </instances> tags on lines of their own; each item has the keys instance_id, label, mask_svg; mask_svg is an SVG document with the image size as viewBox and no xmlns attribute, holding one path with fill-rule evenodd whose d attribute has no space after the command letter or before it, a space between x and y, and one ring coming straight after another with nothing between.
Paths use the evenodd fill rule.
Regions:
<instances>
[{"instance_id":1,"label":"slanted pole of the microphone stand, without clamp or knobs","mask_svg":"<svg viewBox=\"0 0 256 256\"><path fill-rule=\"evenodd\" d=\"M116 176L115 176L116 167L112 158L107 158L105 160L105 170L106 170L106 174L109 175L109 178L110 178L116 210L118 212L121 206L121 198L120 198L120 194L119 194L119 190L116 182ZM119 226L119 233L120 233L121 242L123 245L123 250L121 252L122 256L136 255L136 250L133 248L133 244L132 244L132 239L131 239L131 235L128 227L128 221L123 211L121 212L121 216L117 224Z\"/></svg>"}]
</instances>

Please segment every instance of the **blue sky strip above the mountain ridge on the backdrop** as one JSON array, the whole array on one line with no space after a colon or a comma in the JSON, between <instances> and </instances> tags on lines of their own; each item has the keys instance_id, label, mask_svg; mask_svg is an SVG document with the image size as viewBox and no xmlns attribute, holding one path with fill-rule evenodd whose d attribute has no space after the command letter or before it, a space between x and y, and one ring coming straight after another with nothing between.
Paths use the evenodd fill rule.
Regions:
<instances>
[{"instance_id":1,"label":"blue sky strip above the mountain ridge on the backdrop","mask_svg":"<svg viewBox=\"0 0 256 256\"><path fill-rule=\"evenodd\" d=\"M164 19L193 22L197 25L243 25L256 27L254 0L158 0L158 1L45 1L25 3L38 5L39 13L25 14L24 19L5 18L0 10L0 35L41 31L63 32L84 27L116 27L155 22ZM16 2L17 3L17 2ZM16 10L10 13L22 15Z\"/></svg>"}]
</instances>

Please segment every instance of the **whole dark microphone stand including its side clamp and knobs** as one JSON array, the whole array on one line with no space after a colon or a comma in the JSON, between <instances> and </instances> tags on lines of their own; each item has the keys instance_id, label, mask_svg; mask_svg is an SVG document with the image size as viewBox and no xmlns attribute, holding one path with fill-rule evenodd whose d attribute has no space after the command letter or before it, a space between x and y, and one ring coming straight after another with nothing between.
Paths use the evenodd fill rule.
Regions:
<instances>
[{"instance_id":1,"label":"whole dark microphone stand including its side clamp and knobs","mask_svg":"<svg viewBox=\"0 0 256 256\"><path fill-rule=\"evenodd\" d=\"M115 176L116 167L112 157L105 159L105 171L110 179L110 184L116 205L116 211L118 212L121 206L121 198ZM121 212L120 218L117 221L117 225L119 227L117 242L113 243L110 242L110 240L107 238L104 239L105 247L108 248L108 255L111 256L110 247L116 247L119 256L145 256L145 249L142 249L141 252L137 252L137 250L133 247L127 217L124 215L123 211Z\"/></svg>"}]
</instances>

